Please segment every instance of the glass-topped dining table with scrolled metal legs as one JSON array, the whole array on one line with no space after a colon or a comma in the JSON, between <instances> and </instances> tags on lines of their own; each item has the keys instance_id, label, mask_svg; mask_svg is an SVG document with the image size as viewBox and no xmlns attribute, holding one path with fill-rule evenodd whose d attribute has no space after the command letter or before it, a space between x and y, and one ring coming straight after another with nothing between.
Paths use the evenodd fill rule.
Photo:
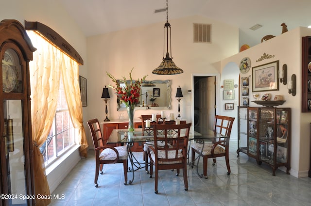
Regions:
<instances>
[{"instance_id":1,"label":"glass-topped dining table with scrolled metal legs","mask_svg":"<svg viewBox=\"0 0 311 206\"><path fill-rule=\"evenodd\" d=\"M202 143L203 150L206 142L215 142L219 138L228 137L213 130L207 130L204 135L196 131L190 131L187 155L189 156L190 154L189 151L192 142ZM109 136L107 143L118 143L127 147L128 157L131 164L131 167L128 167L128 172L132 172L133 174L132 180L129 181L130 185L134 182L135 171L146 167L145 162L141 162L135 157L135 153L132 152L131 148L134 143L148 143L149 141L154 141L153 128L147 128L144 130L141 128L135 128L133 132L129 132L128 129L113 129ZM192 168L195 166L197 174L202 178L203 174L200 174L198 171L200 157L201 155L197 156L193 162L190 162L190 158L188 157L188 164Z\"/></svg>"}]
</instances>

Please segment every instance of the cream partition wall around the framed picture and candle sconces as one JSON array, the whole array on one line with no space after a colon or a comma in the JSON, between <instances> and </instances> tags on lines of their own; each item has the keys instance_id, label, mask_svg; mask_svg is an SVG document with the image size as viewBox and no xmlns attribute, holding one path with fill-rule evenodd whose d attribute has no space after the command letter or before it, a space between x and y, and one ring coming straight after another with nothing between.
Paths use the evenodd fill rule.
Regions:
<instances>
[{"instance_id":1,"label":"cream partition wall around the framed picture and candle sconces","mask_svg":"<svg viewBox=\"0 0 311 206\"><path fill-rule=\"evenodd\" d=\"M250 58L251 67L278 60L279 68L282 68L283 64L287 64L288 79L292 74L296 75L297 94L295 96L290 95L287 85L283 85L282 83L279 84L278 91L268 92L272 97L283 95L286 102L280 107L292 108L292 168L290 172L296 177L308 176L310 159L311 114L301 113L301 80L299 80L301 79L301 37L307 35L311 35L310 29L296 28L221 61L222 68L224 68L228 63L239 65L244 57ZM274 55L274 57L256 62L264 53ZM241 77L248 76L252 76L252 69L247 74L241 74ZM252 80L251 78L249 80L250 106L259 106L251 102L254 98L252 97ZM264 93L267 92L260 92L261 95Z\"/></svg>"}]
</instances>

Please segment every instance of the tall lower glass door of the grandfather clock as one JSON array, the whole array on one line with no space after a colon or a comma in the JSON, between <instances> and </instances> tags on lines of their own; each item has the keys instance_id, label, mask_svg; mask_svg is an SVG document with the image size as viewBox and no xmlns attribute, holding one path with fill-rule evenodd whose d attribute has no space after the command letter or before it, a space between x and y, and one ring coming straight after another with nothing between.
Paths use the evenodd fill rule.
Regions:
<instances>
[{"instance_id":1,"label":"tall lower glass door of the grandfather clock","mask_svg":"<svg viewBox=\"0 0 311 206\"><path fill-rule=\"evenodd\" d=\"M3 111L8 204L27 205L27 199L20 198L26 195L22 100L4 100Z\"/></svg>"}]
</instances>

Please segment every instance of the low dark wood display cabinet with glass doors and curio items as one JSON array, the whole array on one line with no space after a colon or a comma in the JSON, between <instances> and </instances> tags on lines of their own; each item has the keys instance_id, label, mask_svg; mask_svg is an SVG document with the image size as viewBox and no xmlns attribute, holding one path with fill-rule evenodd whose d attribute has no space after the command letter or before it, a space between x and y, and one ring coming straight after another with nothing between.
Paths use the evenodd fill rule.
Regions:
<instances>
[{"instance_id":1,"label":"low dark wood display cabinet with glass doors and curio items","mask_svg":"<svg viewBox=\"0 0 311 206\"><path fill-rule=\"evenodd\" d=\"M290 170L291 109L275 107L238 107L238 156L242 152L260 165Z\"/></svg>"}]
</instances>

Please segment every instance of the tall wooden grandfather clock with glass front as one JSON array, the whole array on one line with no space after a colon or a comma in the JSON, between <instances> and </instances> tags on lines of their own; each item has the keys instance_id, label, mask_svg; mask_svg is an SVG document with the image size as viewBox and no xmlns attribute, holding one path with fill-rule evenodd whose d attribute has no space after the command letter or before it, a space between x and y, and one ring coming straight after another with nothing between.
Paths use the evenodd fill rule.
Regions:
<instances>
[{"instance_id":1,"label":"tall wooden grandfather clock with glass front","mask_svg":"<svg viewBox=\"0 0 311 206\"><path fill-rule=\"evenodd\" d=\"M0 22L0 206L35 205L29 79L34 51L20 22Z\"/></svg>"}]
</instances>

